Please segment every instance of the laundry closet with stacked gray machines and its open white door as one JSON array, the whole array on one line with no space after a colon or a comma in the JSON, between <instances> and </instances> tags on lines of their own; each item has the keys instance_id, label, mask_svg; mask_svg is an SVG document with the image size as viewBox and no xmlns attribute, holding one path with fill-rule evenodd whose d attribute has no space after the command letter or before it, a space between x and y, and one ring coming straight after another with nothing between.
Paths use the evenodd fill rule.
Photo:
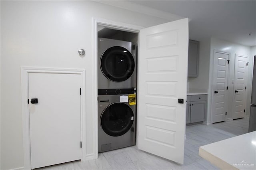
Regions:
<instances>
[{"instance_id":1,"label":"laundry closet with stacked gray machines and its open white door","mask_svg":"<svg viewBox=\"0 0 256 170\"><path fill-rule=\"evenodd\" d=\"M140 150L183 164L188 19L148 28L108 21L96 21L95 25L95 150L104 152L136 145ZM138 42L137 49L132 42ZM118 55L111 59L111 53ZM115 73L117 70L120 71Z\"/></svg>"}]
</instances>

